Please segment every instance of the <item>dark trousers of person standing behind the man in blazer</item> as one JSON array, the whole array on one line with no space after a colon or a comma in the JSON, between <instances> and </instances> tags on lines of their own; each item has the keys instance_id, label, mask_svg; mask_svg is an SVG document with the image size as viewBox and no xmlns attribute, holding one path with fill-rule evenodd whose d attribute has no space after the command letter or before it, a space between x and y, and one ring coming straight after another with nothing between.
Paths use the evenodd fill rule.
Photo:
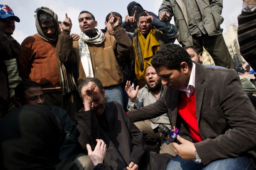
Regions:
<instances>
[{"instance_id":1,"label":"dark trousers of person standing behind the man in blazer","mask_svg":"<svg viewBox=\"0 0 256 170\"><path fill-rule=\"evenodd\" d=\"M230 52L227 49L226 43L224 41L223 35L213 35L208 34L202 36L192 36L193 46L197 49L199 54L203 54L204 48L211 55L216 66L222 66L227 69L235 69L235 64L231 58ZM203 48L204 47L204 48Z\"/></svg>"}]
</instances>

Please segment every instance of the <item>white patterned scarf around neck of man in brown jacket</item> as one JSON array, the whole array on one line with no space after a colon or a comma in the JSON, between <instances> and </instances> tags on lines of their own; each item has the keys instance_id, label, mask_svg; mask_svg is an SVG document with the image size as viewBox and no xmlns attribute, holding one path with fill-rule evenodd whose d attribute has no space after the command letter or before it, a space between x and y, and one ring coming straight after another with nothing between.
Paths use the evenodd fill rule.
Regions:
<instances>
[{"instance_id":1,"label":"white patterned scarf around neck of man in brown jacket","mask_svg":"<svg viewBox=\"0 0 256 170\"><path fill-rule=\"evenodd\" d=\"M100 29L95 29L95 31L98 33L98 35L93 38L88 37L84 32L81 31L79 39L78 50L86 78L94 77L90 51L87 43L101 44L105 40L105 34Z\"/></svg>"}]
</instances>

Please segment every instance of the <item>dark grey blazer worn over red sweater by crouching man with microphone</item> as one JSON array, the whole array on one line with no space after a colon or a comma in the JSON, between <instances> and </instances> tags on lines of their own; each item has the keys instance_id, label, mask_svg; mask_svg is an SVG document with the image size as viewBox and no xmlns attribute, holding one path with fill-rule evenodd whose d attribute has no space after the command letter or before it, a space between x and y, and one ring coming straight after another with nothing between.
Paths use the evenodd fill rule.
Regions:
<instances>
[{"instance_id":1,"label":"dark grey blazer worn over red sweater by crouching man with microphone","mask_svg":"<svg viewBox=\"0 0 256 170\"><path fill-rule=\"evenodd\" d=\"M141 121L169 112L172 126L190 138L188 127L177 114L179 91L165 88L156 103L128 112ZM233 69L195 67L195 98L198 129L204 141L195 143L204 165L217 159L246 155L256 167L256 110L242 89ZM182 123L184 126L182 126ZM250 152L250 154L248 154Z\"/></svg>"}]
</instances>

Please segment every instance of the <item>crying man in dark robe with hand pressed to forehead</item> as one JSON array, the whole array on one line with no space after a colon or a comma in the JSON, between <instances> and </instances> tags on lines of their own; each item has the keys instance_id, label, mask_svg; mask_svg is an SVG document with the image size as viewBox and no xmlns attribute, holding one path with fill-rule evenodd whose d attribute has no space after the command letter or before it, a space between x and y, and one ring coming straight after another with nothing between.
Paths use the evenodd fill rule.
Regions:
<instances>
[{"instance_id":1,"label":"crying man in dark robe with hand pressed to forehead","mask_svg":"<svg viewBox=\"0 0 256 170\"><path fill-rule=\"evenodd\" d=\"M79 84L84 111L76 112L79 143L93 148L96 139L107 145L104 164L111 170L166 169L169 154L152 154L146 151L143 135L115 101L106 102L105 89L97 78L87 78Z\"/></svg>"}]
</instances>

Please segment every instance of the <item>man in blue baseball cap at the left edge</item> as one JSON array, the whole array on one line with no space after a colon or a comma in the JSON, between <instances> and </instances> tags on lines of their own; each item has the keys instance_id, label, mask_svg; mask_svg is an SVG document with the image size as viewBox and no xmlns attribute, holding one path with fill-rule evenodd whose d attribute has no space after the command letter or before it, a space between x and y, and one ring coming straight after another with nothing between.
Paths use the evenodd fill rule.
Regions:
<instances>
[{"instance_id":1,"label":"man in blue baseball cap at the left edge","mask_svg":"<svg viewBox=\"0 0 256 170\"><path fill-rule=\"evenodd\" d=\"M10 101L5 62L20 55L20 44L11 36L15 30L15 21L20 22L20 18L15 16L9 6L0 4L0 118L6 115Z\"/></svg>"}]
</instances>

